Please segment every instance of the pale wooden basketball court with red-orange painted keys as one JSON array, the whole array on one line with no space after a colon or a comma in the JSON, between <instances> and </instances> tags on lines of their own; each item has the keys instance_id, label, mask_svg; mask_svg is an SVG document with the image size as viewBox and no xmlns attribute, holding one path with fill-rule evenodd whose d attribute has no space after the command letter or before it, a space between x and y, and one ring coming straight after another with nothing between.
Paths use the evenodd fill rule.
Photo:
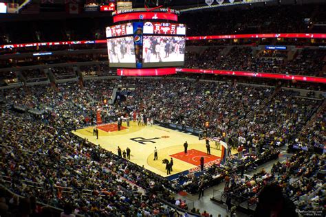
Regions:
<instances>
[{"instance_id":1,"label":"pale wooden basketball court with red-orange painted keys","mask_svg":"<svg viewBox=\"0 0 326 217\"><path fill-rule=\"evenodd\" d=\"M93 144L99 144L102 148L118 155L118 146L122 152L127 148L131 149L130 161L147 170L151 170L161 176L166 175L163 159L170 161L173 158L173 171L171 175L194 170L200 165L200 158L209 164L219 164L221 161L221 150L215 148L215 143L210 142L210 154L206 153L205 140L199 140L194 135L171 130L161 126L138 126L130 122L130 126L124 122L121 130L118 131L116 123L102 124L98 128L98 139L93 135L94 126L72 132L79 137L88 139ZM188 152L184 153L184 142L188 142ZM154 161L154 148L157 148L158 160ZM232 151L232 154L237 151Z\"/></svg>"}]
</instances>

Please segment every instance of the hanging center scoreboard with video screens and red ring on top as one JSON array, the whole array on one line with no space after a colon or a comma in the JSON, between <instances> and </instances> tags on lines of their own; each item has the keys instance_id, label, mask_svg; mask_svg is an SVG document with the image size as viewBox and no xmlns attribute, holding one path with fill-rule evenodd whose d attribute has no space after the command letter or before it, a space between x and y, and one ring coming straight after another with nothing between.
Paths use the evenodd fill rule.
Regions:
<instances>
[{"instance_id":1,"label":"hanging center scoreboard with video screens and red ring on top","mask_svg":"<svg viewBox=\"0 0 326 217\"><path fill-rule=\"evenodd\" d=\"M160 7L117 10L113 23L118 22L105 29L110 67L184 65L186 25L175 23L177 11Z\"/></svg>"}]
</instances>

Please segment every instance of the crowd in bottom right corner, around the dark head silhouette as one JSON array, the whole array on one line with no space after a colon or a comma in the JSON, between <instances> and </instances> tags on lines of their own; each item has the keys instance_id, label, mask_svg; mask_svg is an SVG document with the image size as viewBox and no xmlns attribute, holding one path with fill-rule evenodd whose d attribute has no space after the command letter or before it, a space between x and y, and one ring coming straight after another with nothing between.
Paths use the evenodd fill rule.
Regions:
<instances>
[{"instance_id":1,"label":"crowd in bottom right corner, around the dark head silhouette","mask_svg":"<svg viewBox=\"0 0 326 217\"><path fill-rule=\"evenodd\" d=\"M324 166L325 156L299 152L282 163L274 163L271 172L263 169L251 178L230 174L230 182L226 184L221 199L228 201L230 198L230 203L234 205L246 202L254 207L263 186L277 183L297 205L300 214L312 210L321 214L325 205L325 183L317 174Z\"/></svg>"}]
</instances>

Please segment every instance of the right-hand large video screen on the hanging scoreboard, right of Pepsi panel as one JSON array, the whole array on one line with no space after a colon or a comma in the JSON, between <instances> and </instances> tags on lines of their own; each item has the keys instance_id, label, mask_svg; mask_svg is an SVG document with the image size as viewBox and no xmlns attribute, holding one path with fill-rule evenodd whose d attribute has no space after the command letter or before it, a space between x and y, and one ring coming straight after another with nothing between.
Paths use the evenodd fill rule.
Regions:
<instances>
[{"instance_id":1,"label":"right-hand large video screen on the hanging scoreboard, right of Pepsi panel","mask_svg":"<svg viewBox=\"0 0 326 217\"><path fill-rule=\"evenodd\" d=\"M142 67L184 65L184 36L143 36Z\"/></svg>"}]
</instances>

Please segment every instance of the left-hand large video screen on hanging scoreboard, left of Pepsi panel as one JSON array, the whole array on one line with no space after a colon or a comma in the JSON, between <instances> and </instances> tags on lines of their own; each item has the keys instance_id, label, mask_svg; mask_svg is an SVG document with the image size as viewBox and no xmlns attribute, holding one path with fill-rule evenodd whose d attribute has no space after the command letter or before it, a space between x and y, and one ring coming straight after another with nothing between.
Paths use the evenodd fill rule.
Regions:
<instances>
[{"instance_id":1,"label":"left-hand large video screen on hanging scoreboard, left of Pepsi panel","mask_svg":"<svg viewBox=\"0 0 326 217\"><path fill-rule=\"evenodd\" d=\"M135 46L133 36L107 39L110 67L135 68Z\"/></svg>"}]
</instances>

